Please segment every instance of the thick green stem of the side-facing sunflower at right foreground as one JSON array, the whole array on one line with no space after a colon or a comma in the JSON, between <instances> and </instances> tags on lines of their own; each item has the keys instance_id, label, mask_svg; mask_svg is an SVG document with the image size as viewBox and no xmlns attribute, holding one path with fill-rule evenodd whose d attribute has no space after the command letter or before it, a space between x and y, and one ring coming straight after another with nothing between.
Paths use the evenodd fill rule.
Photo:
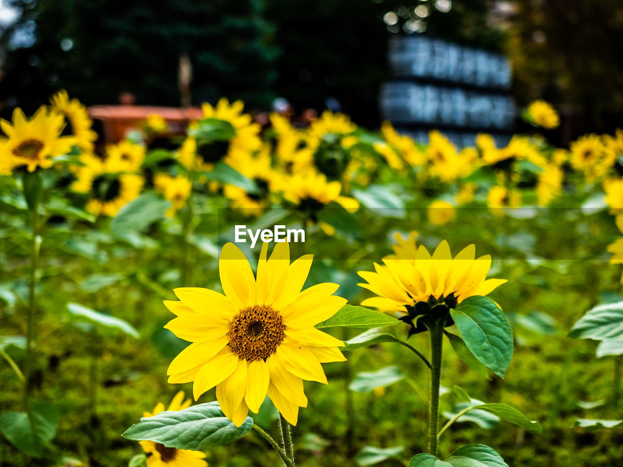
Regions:
<instances>
[{"instance_id":1,"label":"thick green stem of the side-facing sunflower at right foreground","mask_svg":"<svg viewBox=\"0 0 623 467\"><path fill-rule=\"evenodd\" d=\"M441 356L444 343L444 319L434 319L426 324L430 336L430 397L429 397L429 453L437 455L437 430L439 427L439 386L441 384Z\"/></svg>"}]
</instances>

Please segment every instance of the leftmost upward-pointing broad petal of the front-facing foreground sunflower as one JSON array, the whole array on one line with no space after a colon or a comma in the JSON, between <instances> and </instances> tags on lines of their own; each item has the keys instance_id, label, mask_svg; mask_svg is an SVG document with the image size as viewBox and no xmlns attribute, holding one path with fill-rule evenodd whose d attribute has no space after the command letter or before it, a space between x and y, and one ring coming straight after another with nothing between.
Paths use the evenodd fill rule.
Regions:
<instances>
[{"instance_id":1,"label":"leftmost upward-pointing broad petal of the front-facing foreground sunflower","mask_svg":"<svg viewBox=\"0 0 623 467\"><path fill-rule=\"evenodd\" d=\"M226 243L221 250L219 275L225 295L238 308L255 303L257 287L251 265L234 243Z\"/></svg>"}]
</instances>

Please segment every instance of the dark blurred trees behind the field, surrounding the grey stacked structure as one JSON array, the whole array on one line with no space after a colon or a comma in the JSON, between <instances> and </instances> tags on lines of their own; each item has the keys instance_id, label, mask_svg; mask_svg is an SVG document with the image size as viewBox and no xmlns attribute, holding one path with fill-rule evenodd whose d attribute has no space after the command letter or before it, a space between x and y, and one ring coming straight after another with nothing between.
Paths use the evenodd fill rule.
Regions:
<instances>
[{"instance_id":1,"label":"dark blurred trees behind the field, surrounding the grey stacked structure","mask_svg":"<svg viewBox=\"0 0 623 467\"><path fill-rule=\"evenodd\" d=\"M339 104L374 128L389 37L425 34L510 57L516 103L551 101L563 143L623 126L621 0L1 1L4 117L59 88L87 105L130 92L138 104L179 106L188 56L193 104Z\"/></svg>"}]
</instances>

